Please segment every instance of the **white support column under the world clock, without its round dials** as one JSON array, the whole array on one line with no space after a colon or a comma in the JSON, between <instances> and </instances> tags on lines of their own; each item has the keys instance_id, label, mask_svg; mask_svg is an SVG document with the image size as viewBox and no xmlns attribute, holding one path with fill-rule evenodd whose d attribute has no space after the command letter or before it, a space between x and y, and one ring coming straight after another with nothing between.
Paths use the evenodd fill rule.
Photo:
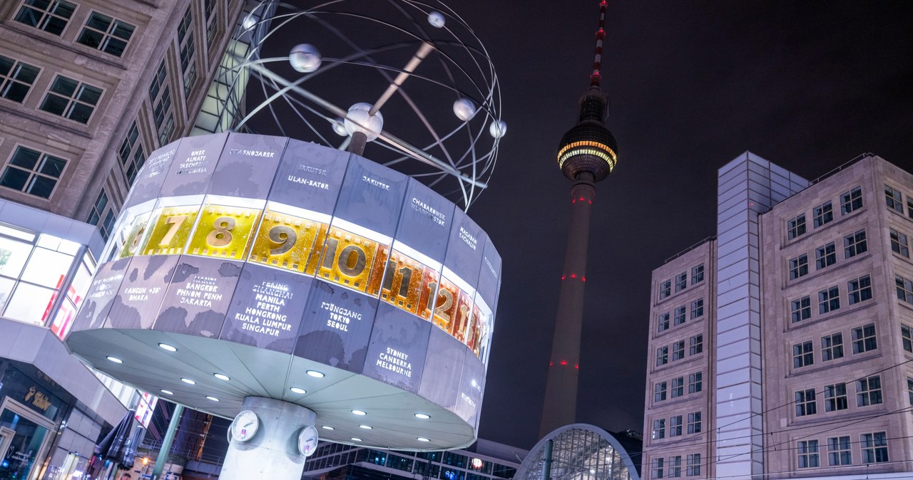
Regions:
<instances>
[{"instance_id":1,"label":"white support column under the world clock, without its round dials","mask_svg":"<svg viewBox=\"0 0 913 480\"><path fill-rule=\"evenodd\" d=\"M259 426L246 442L231 435L219 480L300 480L305 457L299 453L298 436L315 423L317 414L264 397L245 398L241 410L257 414Z\"/></svg>"}]
</instances>

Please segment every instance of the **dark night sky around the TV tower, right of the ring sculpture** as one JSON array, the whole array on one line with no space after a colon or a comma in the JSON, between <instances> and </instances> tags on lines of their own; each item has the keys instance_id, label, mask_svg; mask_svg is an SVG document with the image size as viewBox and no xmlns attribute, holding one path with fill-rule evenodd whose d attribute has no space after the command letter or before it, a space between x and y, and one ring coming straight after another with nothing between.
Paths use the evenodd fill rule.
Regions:
<instances>
[{"instance_id":1,"label":"dark night sky around the TV tower, right of the ring sculpture","mask_svg":"<svg viewBox=\"0 0 913 480\"><path fill-rule=\"evenodd\" d=\"M469 209L504 260L479 435L530 448L570 211L554 155L588 86L598 1L447 5L488 47L509 125ZM593 204L578 422L641 431L650 272L716 234L719 167L750 150L807 179L865 152L913 170L911 25L900 1L609 2L619 163Z\"/></svg>"}]
</instances>

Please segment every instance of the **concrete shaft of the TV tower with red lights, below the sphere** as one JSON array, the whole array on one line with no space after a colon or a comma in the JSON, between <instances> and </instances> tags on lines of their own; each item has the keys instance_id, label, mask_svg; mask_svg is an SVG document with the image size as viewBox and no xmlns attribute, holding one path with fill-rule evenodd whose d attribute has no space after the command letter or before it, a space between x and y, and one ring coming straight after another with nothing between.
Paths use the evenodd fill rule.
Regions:
<instances>
[{"instance_id":1,"label":"concrete shaft of the TV tower with red lights, below the sphere","mask_svg":"<svg viewBox=\"0 0 913 480\"><path fill-rule=\"evenodd\" d=\"M540 437L562 425L573 424L577 413L583 287L586 285L590 212L596 196L592 175L582 174L581 177L571 189L571 224L568 227L567 250L564 252L564 269L561 271L561 291L551 342Z\"/></svg>"}]
</instances>

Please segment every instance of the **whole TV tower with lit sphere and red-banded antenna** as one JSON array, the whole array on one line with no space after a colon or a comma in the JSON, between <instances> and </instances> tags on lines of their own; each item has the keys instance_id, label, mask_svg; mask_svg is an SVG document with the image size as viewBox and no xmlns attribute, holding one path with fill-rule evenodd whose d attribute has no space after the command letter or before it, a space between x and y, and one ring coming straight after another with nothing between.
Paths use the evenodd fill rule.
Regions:
<instances>
[{"instance_id":1,"label":"whole TV tower with lit sphere and red-banded antenna","mask_svg":"<svg viewBox=\"0 0 913 480\"><path fill-rule=\"evenodd\" d=\"M580 97L577 125L564 134L558 147L558 167L565 177L573 181L571 225L564 253L564 270L561 272L561 292L551 343L540 436L575 421L590 209L596 196L596 182L608 177L617 161L615 138L604 125L609 98L599 86L604 27L605 0L602 0L599 3L599 29L596 30L596 54L590 87Z\"/></svg>"}]
</instances>

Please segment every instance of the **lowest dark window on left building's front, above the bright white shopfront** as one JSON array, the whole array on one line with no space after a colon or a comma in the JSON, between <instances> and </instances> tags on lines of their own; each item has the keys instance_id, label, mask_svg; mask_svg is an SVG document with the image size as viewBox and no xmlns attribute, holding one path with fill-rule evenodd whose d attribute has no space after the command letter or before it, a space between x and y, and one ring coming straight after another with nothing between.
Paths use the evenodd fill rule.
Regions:
<instances>
[{"instance_id":1,"label":"lowest dark window on left building's front, above the bright white shopfront","mask_svg":"<svg viewBox=\"0 0 913 480\"><path fill-rule=\"evenodd\" d=\"M42 199L50 199L67 160L25 147L16 147L9 159L0 186L24 191Z\"/></svg>"}]
</instances>

